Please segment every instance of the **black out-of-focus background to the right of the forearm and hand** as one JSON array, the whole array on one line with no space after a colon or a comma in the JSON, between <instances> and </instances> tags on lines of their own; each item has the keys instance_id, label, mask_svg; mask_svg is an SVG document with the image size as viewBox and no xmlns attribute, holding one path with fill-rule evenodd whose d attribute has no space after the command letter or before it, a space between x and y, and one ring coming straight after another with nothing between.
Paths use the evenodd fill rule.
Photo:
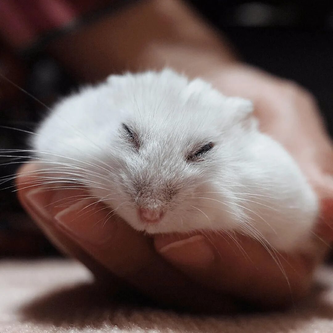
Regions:
<instances>
[{"instance_id":1,"label":"black out-of-focus background to the right of the forearm and hand","mask_svg":"<svg viewBox=\"0 0 333 333\"><path fill-rule=\"evenodd\" d=\"M252 65L317 98L333 135L333 2L190 0Z\"/></svg>"}]
</instances>

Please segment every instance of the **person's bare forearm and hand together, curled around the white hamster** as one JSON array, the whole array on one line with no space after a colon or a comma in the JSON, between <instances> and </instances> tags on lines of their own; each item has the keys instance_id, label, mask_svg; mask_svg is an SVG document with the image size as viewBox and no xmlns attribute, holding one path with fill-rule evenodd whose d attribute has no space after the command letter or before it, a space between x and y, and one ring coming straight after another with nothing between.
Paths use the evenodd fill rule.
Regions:
<instances>
[{"instance_id":1,"label":"person's bare forearm and hand together, curled around the white hamster","mask_svg":"<svg viewBox=\"0 0 333 333\"><path fill-rule=\"evenodd\" d=\"M261 130L291 153L321 205L313 252L273 258L243 235L237 236L238 244L214 233L147 236L117 218L98 228L107 209L97 211L97 205L91 215L82 210L89 199L73 205L73 196L82 198L85 189L27 188L38 166L25 165L17 179L19 199L56 245L97 276L129 283L161 303L190 310L231 311L239 299L276 307L309 291L313 270L333 239L332 143L309 92L238 61L227 41L177 0L139 3L64 36L49 51L88 82L167 65L210 81L224 94L250 98ZM61 207L52 204L57 200ZM76 223L78 216L84 223Z\"/></svg>"}]
</instances>

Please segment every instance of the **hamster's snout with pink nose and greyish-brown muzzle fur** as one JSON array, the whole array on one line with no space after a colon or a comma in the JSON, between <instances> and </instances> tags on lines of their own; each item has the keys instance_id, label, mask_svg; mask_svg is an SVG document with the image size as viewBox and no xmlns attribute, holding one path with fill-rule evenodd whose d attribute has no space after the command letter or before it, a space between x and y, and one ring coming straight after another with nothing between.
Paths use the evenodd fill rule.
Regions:
<instances>
[{"instance_id":1,"label":"hamster's snout with pink nose and greyish-brown muzzle fur","mask_svg":"<svg viewBox=\"0 0 333 333\"><path fill-rule=\"evenodd\" d=\"M186 198L193 195L193 190L196 187L195 181L185 178L181 169L173 170L172 175L167 175L167 172L172 169L171 166L160 166L160 172L155 171L155 167L145 168L140 166L141 159L144 158L144 153L134 157L135 162L139 165L123 170L122 182L120 188L123 188L124 199L128 202L120 206L120 211L126 210L125 214L128 221L132 221L134 227L142 228L149 232L158 232L159 229L167 229L174 225L173 218L175 211L179 206L185 204ZM158 157L155 162L158 163ZM130 216L131 215L131 216ZM164 227L163 227L164 225Z\"/></svg>"}]
</instances>

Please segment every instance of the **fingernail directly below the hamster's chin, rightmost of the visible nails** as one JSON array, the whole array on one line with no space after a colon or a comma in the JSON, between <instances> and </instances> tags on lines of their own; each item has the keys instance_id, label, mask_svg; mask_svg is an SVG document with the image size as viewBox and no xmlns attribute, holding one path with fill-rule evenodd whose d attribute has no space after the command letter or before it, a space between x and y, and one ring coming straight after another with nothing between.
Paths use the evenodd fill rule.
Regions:
<instances>
[{"instance_id":1,"label":"fingernail directly below the hamster's chin, rightmost of the visible nails","mask_svg":"<svg viewBox=\"0 0 333 333\"><path fill-rule=\"evenodd\" d=\"M176 265L204 269L215 259L214 249L202 235L178 240L159 248L160 244L161 242L155 243L159 253Z\"/></svg>"}]
</instances>

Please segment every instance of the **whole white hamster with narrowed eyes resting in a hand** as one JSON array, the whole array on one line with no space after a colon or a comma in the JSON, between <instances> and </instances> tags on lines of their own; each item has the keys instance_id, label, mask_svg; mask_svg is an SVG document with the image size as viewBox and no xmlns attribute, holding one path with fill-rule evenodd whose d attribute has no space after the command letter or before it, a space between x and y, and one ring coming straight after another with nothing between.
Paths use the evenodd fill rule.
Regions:
<instances>
[{"instance_id":1,"label":"whole white hamster with narrowed eyes resting in a hand","mask_svg":"<svg viewBox=\"0 0 333 333\"><path fill-rule=\"evenodd\" d=\"M250 101L170 69L112 75L58 103L33 148L137 230L238 231L276 250L302 249L317 197L252 111Z\"/></svg>"}]
</instances>

